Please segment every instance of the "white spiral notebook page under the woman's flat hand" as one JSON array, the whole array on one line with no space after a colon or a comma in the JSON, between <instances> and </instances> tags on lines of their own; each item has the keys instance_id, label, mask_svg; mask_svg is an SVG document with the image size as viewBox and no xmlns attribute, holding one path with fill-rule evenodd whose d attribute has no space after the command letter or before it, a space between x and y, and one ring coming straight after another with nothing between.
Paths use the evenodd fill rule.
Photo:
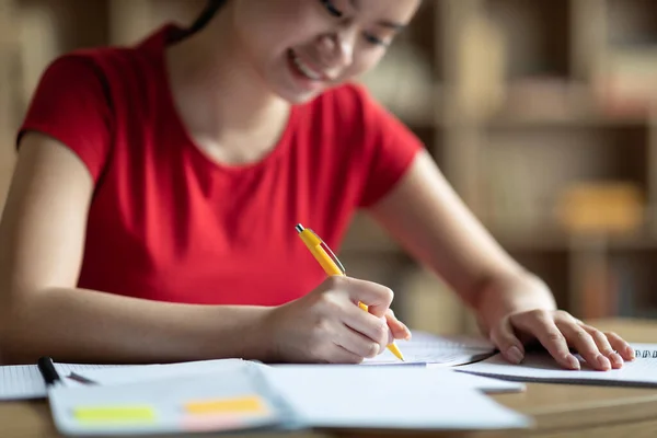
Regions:
<instances>
[{"instance_id":1,"label":"white spiral notebook page under the woman's flat hand","mask_svg":"<svg viewBox=\"0 0 657 438\"><path fill-rule=\"evenodd\" d=\"M456 370L517 381L657 387L657 344L631 345L635 348L637 358L625 362L620 369L609 371L590 368L579 355L576 357L581 364L581 370L567 370L546 353L530 353L520 365L511 365L498 354L477 364L458 367Z\"/></svg>"}]
</instances>

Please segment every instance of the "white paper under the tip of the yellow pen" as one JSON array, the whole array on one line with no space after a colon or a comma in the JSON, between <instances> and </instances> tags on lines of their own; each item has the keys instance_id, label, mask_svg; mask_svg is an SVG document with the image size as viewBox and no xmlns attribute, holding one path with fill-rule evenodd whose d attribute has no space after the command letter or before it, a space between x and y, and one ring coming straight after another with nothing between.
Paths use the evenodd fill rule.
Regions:
<instances>
[{"instance_id":1,"label":"white paper under the tip of the yellow pen","mask_svg":"<svg viewBox=\"0 0 657 438\"><path fill-rule=\"evenodd\" d=\"M387 348L361 365L425 365L430 367L453 367L485 359L495 353L489 342L471 336L436 336L426 332L413 332L411 341L396 341L404 355L397 359Z\"/></svg>"}]
</instances>

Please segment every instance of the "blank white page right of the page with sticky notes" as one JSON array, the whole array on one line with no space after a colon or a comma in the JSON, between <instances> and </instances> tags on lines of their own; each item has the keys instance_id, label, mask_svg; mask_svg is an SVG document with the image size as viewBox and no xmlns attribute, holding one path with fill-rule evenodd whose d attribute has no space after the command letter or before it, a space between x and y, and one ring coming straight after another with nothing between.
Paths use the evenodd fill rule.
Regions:
<instances>
[{"instance_id":1,"label":"blank white page right of the page with sticky notes","mask_svg":"<svg viewBox=\"0 0 657 438\"><path fill-rule=\"evenodd\" d=\"M284 366L266 378L308 427L497 429L530 420L453 371L424 367Z\"/></svg>"}]
</instances>

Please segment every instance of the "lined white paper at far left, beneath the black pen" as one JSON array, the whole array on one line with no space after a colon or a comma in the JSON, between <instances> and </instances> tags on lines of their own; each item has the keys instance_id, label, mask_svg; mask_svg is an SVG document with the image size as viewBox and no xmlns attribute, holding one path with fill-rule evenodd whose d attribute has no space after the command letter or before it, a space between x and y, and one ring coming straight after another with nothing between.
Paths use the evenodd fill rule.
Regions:
<instances>
[{"instance_id":1,"label":"lined white paper at far left, beneath the black pen","mask_svg":"<svg viewBox=\"0 0 657 438\"><path fill-rule=\"evenodd\" d=\"M72 371L115 367L113 365L55 364L64 383ZM71 383L71 382L69 382ZM74 383L73 383L74 384ZM46 396L46 383L36 365L8 365L0 367L0 400L28 400Z\"/></svg>"}]
</instances>

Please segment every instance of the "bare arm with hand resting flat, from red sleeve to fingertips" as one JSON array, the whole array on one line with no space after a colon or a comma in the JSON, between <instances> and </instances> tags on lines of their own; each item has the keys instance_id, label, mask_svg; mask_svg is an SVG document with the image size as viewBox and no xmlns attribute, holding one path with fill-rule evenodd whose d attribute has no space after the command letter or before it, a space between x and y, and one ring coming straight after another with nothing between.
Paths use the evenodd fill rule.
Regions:
<instances>
[{"instance_id":1,"label":"bare arm with hand resting flat, from red sleeve to fingertips","mask_svg":"<svg viewBox=\"0 0 657 438\"><path fill-rule=\"evenodd\" d=\"M556 310L548 286L495 242L426 152L371 212L475 310L480 326L509 361L522 360L523 342L532 339L566 368L579 368L569 346L601 370L633 357L624 339Z\"/></svg>"}]
</instances>

